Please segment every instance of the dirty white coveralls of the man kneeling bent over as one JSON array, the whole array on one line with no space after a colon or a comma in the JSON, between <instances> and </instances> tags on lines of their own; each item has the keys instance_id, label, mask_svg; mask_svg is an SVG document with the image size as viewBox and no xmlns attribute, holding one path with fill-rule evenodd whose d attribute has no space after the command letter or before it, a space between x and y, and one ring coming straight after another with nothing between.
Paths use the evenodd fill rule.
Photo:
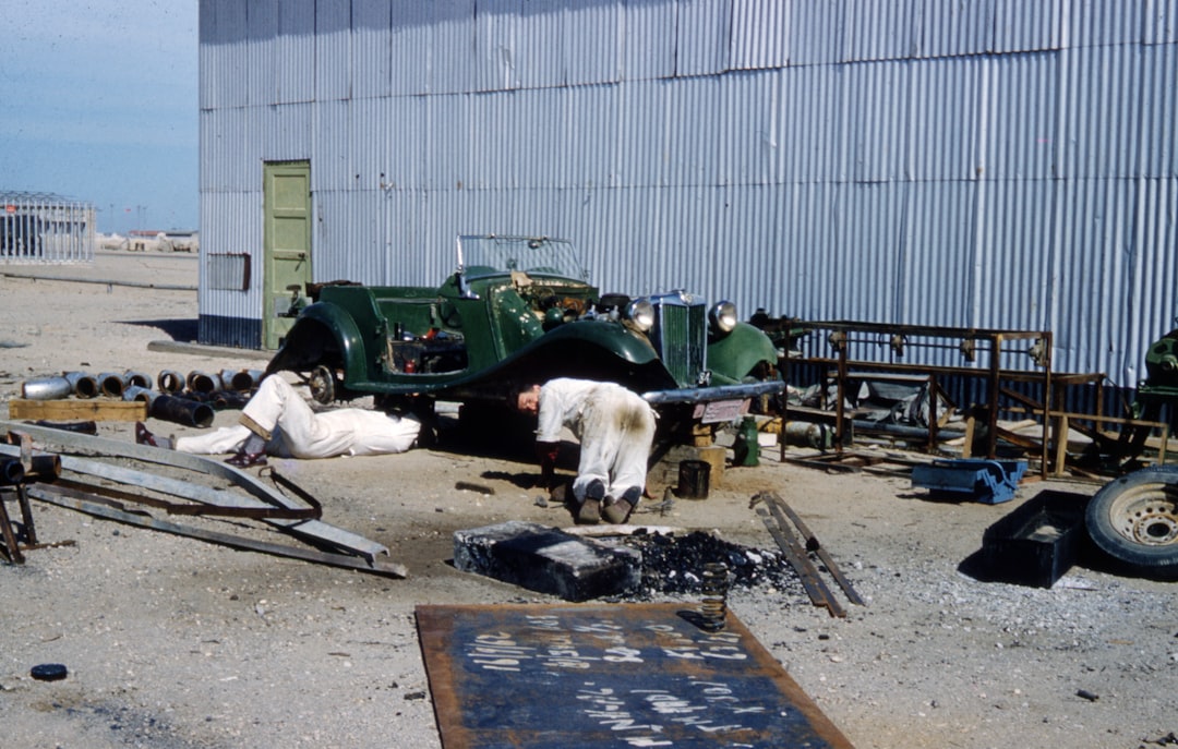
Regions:
<instances>
[{"instance_id":1,"label":"dirty white coveralls of the man kneeling bent over","mask_svg":"<svg viewBox=\"0 0 1178 749\"><path fill-rule=\"evenodd\" d=\"M637 393L615 383L558 378L540 389L536 440L555 443L561 429L581 440L581 463L573 482L577 501L594 479L608 497L647 484L647 462L655 437L655 413Z\"/></svg>"}]
</instances>

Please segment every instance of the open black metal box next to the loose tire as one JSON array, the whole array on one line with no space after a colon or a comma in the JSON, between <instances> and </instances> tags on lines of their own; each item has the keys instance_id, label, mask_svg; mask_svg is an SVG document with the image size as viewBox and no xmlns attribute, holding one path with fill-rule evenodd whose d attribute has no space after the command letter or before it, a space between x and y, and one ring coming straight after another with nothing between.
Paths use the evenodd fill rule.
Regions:
<instances>
[{"instance_id":1,"label":"open black metal box next to the loose tire","mask_svg":"<svg viewBox=\"0 0 1178 749\"><path fill-rule=\"evenodd\" d=\"M1046 489L986 529L982 561L995 581L1051 588L1088 545L1090 497Z\"/></svg>"}]
</instances>

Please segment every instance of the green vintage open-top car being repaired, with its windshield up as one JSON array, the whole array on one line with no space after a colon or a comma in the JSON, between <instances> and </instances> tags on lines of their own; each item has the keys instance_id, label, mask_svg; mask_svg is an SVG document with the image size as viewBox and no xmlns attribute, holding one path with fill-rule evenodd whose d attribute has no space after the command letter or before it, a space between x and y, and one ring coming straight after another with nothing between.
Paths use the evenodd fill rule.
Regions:
<instances>
[{"instance_id":1,"label":"green vintage open-top car being repaired, with its windshield up","mask_svg":"<svg viewBox=\"0 0 1178 749\"><path fill-rule=\"evenodd\" d=\"M267 371L299 373L320 403L502 405L528 382L611 380L675 423L730 419L785 386L773 343L729 303L603 294L562 239L463 236L457 252L436 289L318 287Z\"/></svg>"}]
</instances>

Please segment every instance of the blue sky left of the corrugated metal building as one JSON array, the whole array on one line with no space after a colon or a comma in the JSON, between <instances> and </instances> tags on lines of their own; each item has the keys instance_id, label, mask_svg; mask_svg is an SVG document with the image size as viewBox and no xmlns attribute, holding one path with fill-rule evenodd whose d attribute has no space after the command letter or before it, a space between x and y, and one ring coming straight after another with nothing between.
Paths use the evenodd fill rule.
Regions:
<instances>
[{"instance_id":1,"label":"blue sky left of the corrugated metal building","mask_svg":"<svg viewBox=\"0 0 1178 749\"><path fill-rule=\"evenodd\" d=\"M199 228L197 0L0 1L0 193Z\"/></svg>"}]
</instances>

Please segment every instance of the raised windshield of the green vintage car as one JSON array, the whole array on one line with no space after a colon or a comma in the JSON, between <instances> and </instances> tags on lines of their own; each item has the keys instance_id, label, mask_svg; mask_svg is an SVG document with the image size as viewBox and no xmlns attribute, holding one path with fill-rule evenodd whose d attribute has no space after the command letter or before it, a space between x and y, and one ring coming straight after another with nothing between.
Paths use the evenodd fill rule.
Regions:
<instances>
[{"instance_id":1,"label":"raised windshield of the green vintage car","mask_svg":"<svg viewBox=\"0 0 1178 749\"><path fill-rule=\"evenodd\" d=\"M458 271L466 278L521 271L589 280L573 243L548 237L458 237Z\"/></svg>"}]
</instances>

